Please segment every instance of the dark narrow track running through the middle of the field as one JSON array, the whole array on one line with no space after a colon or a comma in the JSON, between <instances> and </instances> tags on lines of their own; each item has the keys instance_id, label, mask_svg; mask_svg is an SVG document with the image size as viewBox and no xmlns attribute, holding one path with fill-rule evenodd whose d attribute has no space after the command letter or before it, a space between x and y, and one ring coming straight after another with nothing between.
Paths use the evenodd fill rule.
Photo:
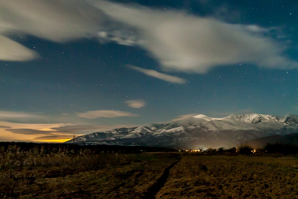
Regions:
<instances>
[{"instance_id":1,"label":"dark narrow track running through the middle of the field","mask_svg":"<svg viewBox=\"0 0 298 199\"><path fill-rule=\"evenodd\" d=\"M159 192L160 189L165 186L165 183L169 178L170 169L172 169L175 164L179 163L180 160L181 158L179 161L173 162L171 165L165 168L164 173L160 176L160 178L153 185L151 185L146 192L144 192L144 199L155 199L157 192Z\"/></svg>"}]
</instances>

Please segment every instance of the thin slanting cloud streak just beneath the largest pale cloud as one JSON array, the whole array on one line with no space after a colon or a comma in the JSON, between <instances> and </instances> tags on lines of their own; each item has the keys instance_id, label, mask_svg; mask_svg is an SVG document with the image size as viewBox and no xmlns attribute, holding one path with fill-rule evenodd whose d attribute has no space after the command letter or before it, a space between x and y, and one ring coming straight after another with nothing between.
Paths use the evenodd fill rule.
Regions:
<instances>
[{"instance_id":1,"label":"thin slanting cloud streak just beneath the largest pale cloud","mask_svg":"<svg viewBox=\"0 0 298 199\"><path fill-rule=\"evenodd\" d=\"M166 75L160 72L157 72L155 70L148 70L148 69L144 69L144 68L139 68L133 65L127 65L129 68L136 70L138 72L142 72L148 76L152 76L155 77L157 79L163 80L163 81L167 81L169 83L176 83L176 84L185 84L186 80L182 79L180 77L176 77L176 76L171 76L171 75Z\"/></svg>"}]
</instances>

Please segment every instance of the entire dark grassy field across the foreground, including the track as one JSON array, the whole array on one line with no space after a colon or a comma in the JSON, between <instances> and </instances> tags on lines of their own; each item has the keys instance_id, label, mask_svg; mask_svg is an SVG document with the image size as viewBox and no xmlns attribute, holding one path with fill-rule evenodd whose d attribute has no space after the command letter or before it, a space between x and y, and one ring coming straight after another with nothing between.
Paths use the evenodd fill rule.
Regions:
<instances>
[{"instance_id":1,"label":"entire dark grassy field across the foreground, including the track","mask_svg":"<svg viewBox=\"0 0 298 199\"><path fill-rule=\"evenodd\" d=\"M0 147L0 198L298 198L298 158Z\"/></svg>"}]
</instances>

